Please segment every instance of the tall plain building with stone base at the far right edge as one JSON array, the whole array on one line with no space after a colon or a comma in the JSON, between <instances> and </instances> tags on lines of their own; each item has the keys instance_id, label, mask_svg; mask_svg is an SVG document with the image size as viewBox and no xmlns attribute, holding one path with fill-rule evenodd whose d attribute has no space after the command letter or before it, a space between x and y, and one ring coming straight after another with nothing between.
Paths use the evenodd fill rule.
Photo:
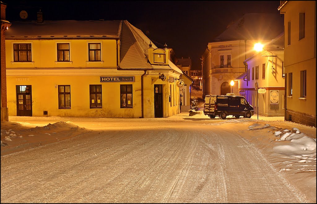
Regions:
<instances>
[{"instance_id":1,"label":"tall plain building with stone base at the far right edge","mask_svg":"<svg viewBox=\"0 0 317 204\"><path fill-rule=\"evenodd\" d=\"M316 1L281 1L285 120L316 127Z\"/></svg>"}]
</instances>

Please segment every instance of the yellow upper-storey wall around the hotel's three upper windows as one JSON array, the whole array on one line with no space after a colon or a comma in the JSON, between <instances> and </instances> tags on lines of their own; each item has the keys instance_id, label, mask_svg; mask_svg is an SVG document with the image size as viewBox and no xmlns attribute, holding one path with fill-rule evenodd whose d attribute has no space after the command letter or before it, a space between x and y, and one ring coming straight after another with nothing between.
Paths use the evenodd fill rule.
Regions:
<instances>
[{"instance_id":1,"label":"yellow upper-storey wall around the hotel's three upper windows","mask_svg":"<svg viewBox=\"0 0 317 204\"><path fill-rule=\"evenodd\" d=\"M101 43L101 61L88 62L88 43ZM6 40L7 68L117 67L116 40ZM13 62L13 43L32 44L32 62ZM57 62L57 43L70 43L70 62Z\"/></svg>"}]
</instances>

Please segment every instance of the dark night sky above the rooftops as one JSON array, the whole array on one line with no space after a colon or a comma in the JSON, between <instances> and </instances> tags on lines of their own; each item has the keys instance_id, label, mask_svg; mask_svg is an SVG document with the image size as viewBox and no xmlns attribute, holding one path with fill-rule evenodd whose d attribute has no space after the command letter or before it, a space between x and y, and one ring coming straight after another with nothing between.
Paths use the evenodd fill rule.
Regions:
<instances>
[{"instance_id":1,"label":"dark night sky above the rooftops","mask_svg":"<svg viewBox=\"0 0 317 204\"><path fill-rule=\"evenodd\" d=\"M192 69L201 69L200 57L207 44L244 13L279 13L280 1L12 1L7 20L36 20L41 8L45 20L127 20L148 37L166 43L178 58L190 57Z\"/></svg>"}]
</instances>

